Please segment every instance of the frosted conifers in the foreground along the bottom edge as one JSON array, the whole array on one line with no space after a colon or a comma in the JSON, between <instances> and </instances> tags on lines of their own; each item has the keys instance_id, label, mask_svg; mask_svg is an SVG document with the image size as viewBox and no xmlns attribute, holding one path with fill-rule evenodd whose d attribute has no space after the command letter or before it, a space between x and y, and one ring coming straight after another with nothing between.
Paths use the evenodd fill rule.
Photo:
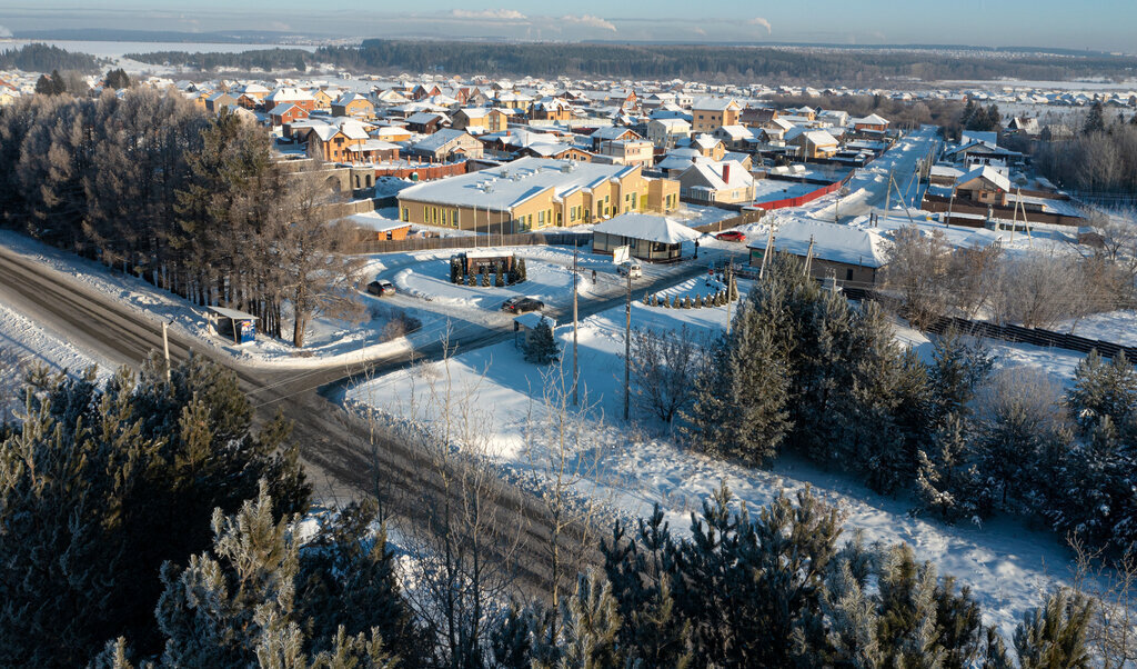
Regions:
<instances>
[{"instance_id":1,"label":"frosted conifers in the foreground along the bottom edge","mask_svg":"<svg viewBox=\"0 0 1137 669\"><path fill-rule=\"evenodd\" d=\"M435 590L405 581L373 499L315 512L288 422L254 430L200 357L168 381L158 356L101 386L33 372L20 396L0 426L6 666L1089 667L1114 649L1101 626L1128 631L1059 589L1004 639L911 547L843 542L808 489L750 512L723 487L689 538L658 509L615 523L553 605L476 589L489 563Z\"/></svg>"}]
</instances>

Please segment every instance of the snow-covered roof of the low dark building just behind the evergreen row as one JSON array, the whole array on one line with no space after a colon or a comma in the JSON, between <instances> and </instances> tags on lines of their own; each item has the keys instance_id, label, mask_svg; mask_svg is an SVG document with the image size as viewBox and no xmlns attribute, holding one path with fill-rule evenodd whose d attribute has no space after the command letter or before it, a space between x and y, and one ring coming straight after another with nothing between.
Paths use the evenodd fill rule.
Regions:
<instances>
[{"instance_id":1,"label":"snow-covered roof of the low dark building just behind the evergreen row","mask_svg":"<svg viewBox=\"0 0 1137 669\"><path fill-rule=\"evenodd\" d=\"M888 262L883 238L874 230L795 218L774 231L774 250L805 257L813 242L813 257L832 263L882 267ZM757 237L749 248L766 248L766 239Z\"/></svg>"}]
</instances>

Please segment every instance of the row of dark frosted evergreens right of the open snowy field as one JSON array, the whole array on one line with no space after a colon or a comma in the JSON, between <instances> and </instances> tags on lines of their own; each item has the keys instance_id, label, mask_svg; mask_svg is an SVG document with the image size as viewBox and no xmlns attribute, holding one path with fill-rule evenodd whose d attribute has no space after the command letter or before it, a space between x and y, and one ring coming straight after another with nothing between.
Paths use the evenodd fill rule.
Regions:
<instances>
[{"instance_id":1,"label":"row of dark frosted evergreens right of the open snowy field","mask_svg":"<svg viewBox=\"0 0 1137 669\"><path fill-rule=\"evenodd\" d=\"M852 306L795 258L771 265L695 381L692 446L754 465L788 449L881 493L913 490L946 521L1011 512L1134 550L1137 371L1123 355L1092 353L1064 396L1035 375L993 375L951 332L926 364L875 303Z\"/></svg>"}]
</instances>

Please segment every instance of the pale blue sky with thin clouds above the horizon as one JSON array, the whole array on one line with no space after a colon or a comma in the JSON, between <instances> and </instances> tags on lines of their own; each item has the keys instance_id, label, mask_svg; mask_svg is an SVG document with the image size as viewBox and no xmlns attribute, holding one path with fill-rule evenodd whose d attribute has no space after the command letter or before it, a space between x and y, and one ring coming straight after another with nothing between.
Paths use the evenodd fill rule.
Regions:
<instances>
[{"instance_id":1,"label":"pale blue sky with thin clouds above the horizon","mask_svg":"<svg viewBox=\"0 0 1137 669\"><path fill-rule=\"evenodd\" d=\"M186 11L190 6L192 11ZM0 0L0 35L52 27L266 30L345 38L1043 46L1132 53L1137 0Z\"/></svg>"}]
</instances>

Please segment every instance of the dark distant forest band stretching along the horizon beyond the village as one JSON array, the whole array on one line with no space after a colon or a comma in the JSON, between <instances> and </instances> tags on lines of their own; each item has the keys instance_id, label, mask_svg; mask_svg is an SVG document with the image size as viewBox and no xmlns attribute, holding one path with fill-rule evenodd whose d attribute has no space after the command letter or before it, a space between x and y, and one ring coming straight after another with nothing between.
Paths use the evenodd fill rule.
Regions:
<instances>
[{"instance_id":1,"label":"dark distant forest band stretching along the horizon beyond the village","mask_svg":"<svg viewBox=\"0 0 1137 669\"><path fill-rule=\"evenodd\" d=\"M359 47L322 47L242 53L132 53L143 63L265 69L296 68L302 61L371 72L559 75L606 79L688 79L709 82L803 81L868 84L888 79L933 80L1115 80L1137 73L1137 58L1045 53L974 55L922 50L800 49L689 44L487 43L459 41L365 40Z\"/></svg>"}]
</instances>

